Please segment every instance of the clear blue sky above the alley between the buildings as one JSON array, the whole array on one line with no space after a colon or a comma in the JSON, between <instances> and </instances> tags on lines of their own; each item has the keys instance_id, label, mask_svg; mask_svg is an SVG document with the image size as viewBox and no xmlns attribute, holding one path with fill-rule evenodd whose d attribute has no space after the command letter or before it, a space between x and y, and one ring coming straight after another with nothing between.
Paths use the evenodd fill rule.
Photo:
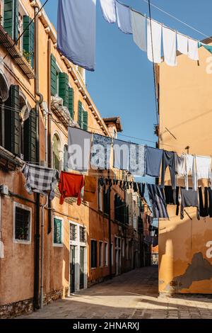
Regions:
<instances>
[{"instance_id":1,"label":"clear blue sky above the alley between the buildings","mask_svg":"<svg viewBox=\"0 0 212 333\"><path fill-rule=\"evenodd\" d=\"M148 4L145 1L122 0L122 2L148 15ZM104 20L99 0L97 3L96 69L95 72L86 73L88 91L103 117L121 116L124 130L122 135L145 139L141 141L120 136L122 140L154 146L154 143L146 141L157 141L157 137L153 134L156 115L152 63L148 61L146 53L134 44L131 35L125 35L116 24ZM151 3L206 35L212 35L211 0L152 0ZM56 6L57 0L49 0L45 6L45 11L54 26L57 26ZM204 38L203 35L187 28L165 13L153 7L151 11L155 20L193 38Z\"/></svg>"}]
</instances>

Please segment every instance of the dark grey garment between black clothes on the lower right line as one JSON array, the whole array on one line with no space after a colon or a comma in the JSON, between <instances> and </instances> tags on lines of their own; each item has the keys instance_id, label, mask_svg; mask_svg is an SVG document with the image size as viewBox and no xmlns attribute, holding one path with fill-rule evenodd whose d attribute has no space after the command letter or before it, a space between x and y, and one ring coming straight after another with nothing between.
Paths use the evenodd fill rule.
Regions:
<instances>
[{"instance_id":1,"label":"dark grey garment between black clothes on the lower right line","mask_svg":"<svg viewBox=\"0 0 212 333\"><path fill-rule=\"evenodd\" d=\"M196 207L196 218L200 220L199 217L199 201L198 201L198 192L189 188L181 188L181 193L179 195L181 201L180 205L180 219L184 218L184 208L187 207Z\"/></svg>"}]
</instances>

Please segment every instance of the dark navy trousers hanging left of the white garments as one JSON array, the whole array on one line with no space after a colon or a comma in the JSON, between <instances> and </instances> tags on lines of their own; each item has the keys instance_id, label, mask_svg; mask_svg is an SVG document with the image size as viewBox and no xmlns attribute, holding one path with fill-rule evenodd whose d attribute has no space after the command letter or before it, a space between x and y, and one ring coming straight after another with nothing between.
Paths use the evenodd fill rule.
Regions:
<instances>
[{"instance_id":1,"label":"dark navy trousers hanging left of the white garments","mask_svg":"<svg viewBox=\"0 0 212 333\"><path fill-rule=\"evenodd\" d=\"M161 169L161 188L164 188L165 170L168 166L170 169L172 188L174 190L176 189L175 157L176 157L175 152L167 152L166 150L163 151L163 160L162 160L162 169Z\"/></svg>"}]
</instances>

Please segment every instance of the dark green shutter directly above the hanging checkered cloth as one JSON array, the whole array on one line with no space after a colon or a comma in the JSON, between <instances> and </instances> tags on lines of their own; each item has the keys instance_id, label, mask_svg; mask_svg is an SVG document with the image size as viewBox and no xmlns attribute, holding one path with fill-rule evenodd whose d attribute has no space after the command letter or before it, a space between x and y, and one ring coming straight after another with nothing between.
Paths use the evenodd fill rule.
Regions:
<instances>
[{"instance_id":1,"label":"dark green shutter directly above the hanging checkered cloth","mask_svg":"<svg viewBox=\"0 0 212 333\"><path fill-rule=\"evenodd\" d=\"M30 111L30 116L24 123L24 159L35 163L37 148L37 115L35 108Z\"/></svg>"}]
</instances>

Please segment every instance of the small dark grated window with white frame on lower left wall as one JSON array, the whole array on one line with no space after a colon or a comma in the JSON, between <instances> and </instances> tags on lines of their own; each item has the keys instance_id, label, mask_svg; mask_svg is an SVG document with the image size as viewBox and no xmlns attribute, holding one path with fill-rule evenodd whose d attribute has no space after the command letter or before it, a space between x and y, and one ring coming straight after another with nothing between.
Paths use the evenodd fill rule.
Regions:
<instances>
[{"instance_id":1,"label":"small dark grated window with white frame on lower left wall","mask_svg":"<svg viewBox=\"0 0 212 333\"><path fill-rule=\"evenodd\" d=\"M16 207L16 239L30 239L30 211Z\"/></svg>"}]
</instances>

